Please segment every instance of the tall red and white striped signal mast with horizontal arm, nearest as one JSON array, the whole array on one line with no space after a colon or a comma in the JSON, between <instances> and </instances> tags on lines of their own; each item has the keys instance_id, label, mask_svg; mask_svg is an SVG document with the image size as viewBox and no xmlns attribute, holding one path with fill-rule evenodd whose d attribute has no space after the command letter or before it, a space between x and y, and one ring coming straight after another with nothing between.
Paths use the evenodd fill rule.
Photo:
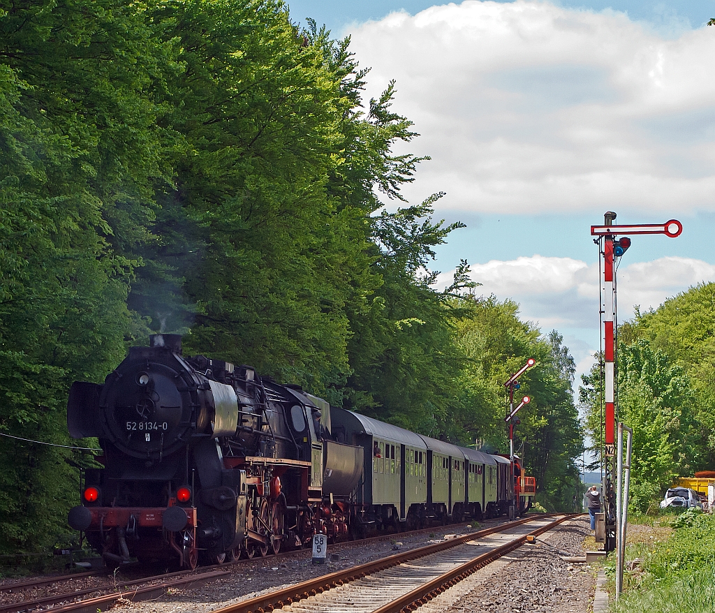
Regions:
<instances>
[{"instance_id":1,"label":"tall red and white striped signal mast with horizontal arm, nearest","mask_svg":"<svg viewBox=\"0 0 715 613\"><path fill-rule=\"evenodd\" d=\"M618 258L631 246L628 235L664 234L675 238L683 232L683 224L669 220L664 224L613 225L616 213L608 211L603 215L603 225L592 225L591 235L597 236L593 242L598 245L602 257L601 274L601 332L603 338L603 388L605 390L605 433L603 436L604 456L606 456L603 479L603 504L606 511L606 551L616 549L616 491L613 487L616 456L616 268ZM621 238L617 238L620 236Z\"/></svg>"}]
</instances>

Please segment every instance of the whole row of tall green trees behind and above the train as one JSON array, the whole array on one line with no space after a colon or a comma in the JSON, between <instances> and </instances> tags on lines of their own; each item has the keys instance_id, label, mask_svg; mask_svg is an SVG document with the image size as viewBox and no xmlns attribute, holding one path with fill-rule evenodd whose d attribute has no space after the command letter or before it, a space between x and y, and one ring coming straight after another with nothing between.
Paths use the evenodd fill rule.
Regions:
<instances>
[{"instance_id":1,"label":"whole row of tall green trees behind and above the train","mask_svg":"<svg viewBox=\"0 0 715 613\"><path fill-rule=\"evenodd\" d=\"M69 443L71 381L154 330L506 451L502 383L533 356L518 446L570 505L573 360L516 304L465 295L465 261L435 290L462 225L433 219L442 193L380 200L425 158L394 153L417 134L394 83L363 101L366 74L279 0L0 1L0 433ZM87 462L0 437L0 554L62 538Z\"/></svg>"}]
</instances>

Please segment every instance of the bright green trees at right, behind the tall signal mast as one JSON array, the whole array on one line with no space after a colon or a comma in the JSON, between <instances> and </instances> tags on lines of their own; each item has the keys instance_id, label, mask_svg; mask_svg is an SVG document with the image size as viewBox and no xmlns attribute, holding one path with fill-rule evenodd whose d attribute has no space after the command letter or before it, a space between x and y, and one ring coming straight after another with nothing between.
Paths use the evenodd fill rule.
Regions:
<instances>
[{"instance_id":1,"label":"bright green trees at right, behind the tall signal mast","mask_svg":"<svg viewBox=\"0 0 715 613\"><path fill-rule=\"evenodd\" d=\"M715 460L715 284L636 312L619 330L618 404L633 428L631 506L646 512L677 476ZM584 377L588 430L601 443L598 369Z\"/></svg>"}]
</instances>

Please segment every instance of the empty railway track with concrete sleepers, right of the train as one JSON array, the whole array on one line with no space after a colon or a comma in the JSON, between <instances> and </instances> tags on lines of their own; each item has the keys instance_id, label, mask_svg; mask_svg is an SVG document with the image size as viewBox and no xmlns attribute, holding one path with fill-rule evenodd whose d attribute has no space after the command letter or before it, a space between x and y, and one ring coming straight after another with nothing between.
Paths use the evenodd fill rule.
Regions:
<instances>
[{"instance_id":1,"label":"empty railway track with concrete sleepers, right of the train","mask_svg":"<svg viewBox=\"0 0 715 613\"><path fill-rule=\"evenodd\" d=\"M490 561L521 546L528 536L537 536L573 515L512 521L438 544L395 554L345 571L318 577L270 594L232 604L214 613L406 613L429 602L461 579ZM534 522L529 531L523 524ZM516 534L503 534L512 531ZM478 539L502 533L491 546ZM477 554L477 549L487 549ZM477 554L477 555L475 555Z\"/></svg>"}]
</instances>

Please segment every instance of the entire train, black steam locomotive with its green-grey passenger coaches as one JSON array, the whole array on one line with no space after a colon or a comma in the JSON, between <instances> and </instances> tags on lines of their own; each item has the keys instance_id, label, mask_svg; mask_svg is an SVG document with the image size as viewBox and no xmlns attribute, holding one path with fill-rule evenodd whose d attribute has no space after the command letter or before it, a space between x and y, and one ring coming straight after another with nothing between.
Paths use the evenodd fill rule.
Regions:
<instances>
[{"instance_id":1,"label":"entire train, black steam locomotive with its green-grey passenger coaches","mask_svg":"<svg viewBox=\"0 0 715 613\"><path fill-rule=\"evenodd\" d=\"M194 568L368 532L528 509L508 458L330 406L250 366L182 355L179 335L132 347L104 384L76 381L74 438L97 437L69 511L108 565Z\"/></svg>"}]
</instances>

